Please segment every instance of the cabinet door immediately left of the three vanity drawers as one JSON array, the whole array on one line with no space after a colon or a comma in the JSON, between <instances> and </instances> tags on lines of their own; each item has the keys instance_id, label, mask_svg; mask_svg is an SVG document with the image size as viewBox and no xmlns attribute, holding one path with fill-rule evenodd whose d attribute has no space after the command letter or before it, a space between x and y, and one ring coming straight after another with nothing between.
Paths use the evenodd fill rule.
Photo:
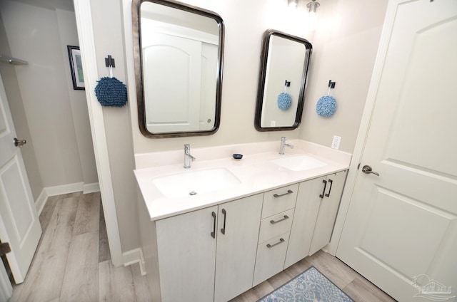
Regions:
<instances>
[{"instance_id":1,"label":"cabinet door immediately left of the three vanity drawers","mask_svg":"<svg viewBox=\"0 0 457 302\"><path fill-rule=\"evenodd\" d=\"M252 287L262 201L263 194L257 194L219 205L216 302L229 301Z\"/></svg>"}]
</instances>

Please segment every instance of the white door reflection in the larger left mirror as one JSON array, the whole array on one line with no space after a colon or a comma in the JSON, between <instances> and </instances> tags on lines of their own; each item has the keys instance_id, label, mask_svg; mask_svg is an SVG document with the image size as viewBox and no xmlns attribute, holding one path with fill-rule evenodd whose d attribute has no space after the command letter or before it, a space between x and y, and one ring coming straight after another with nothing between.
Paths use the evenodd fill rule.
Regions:
<instances>
[{"instance_id":1,"label":"white door reflection in the larger left mirror","mask_svg":"<svg viewBox=\"0 0 457 302\"><path fill-rule=\"evenodd\" d=\"M145 104L146 127L149 132L211 130L217 36L201 31L189 35L189 28L185 33L179 26L158 24L141 19L144 96L154 100Z\"/></svg>"}]
</instances>

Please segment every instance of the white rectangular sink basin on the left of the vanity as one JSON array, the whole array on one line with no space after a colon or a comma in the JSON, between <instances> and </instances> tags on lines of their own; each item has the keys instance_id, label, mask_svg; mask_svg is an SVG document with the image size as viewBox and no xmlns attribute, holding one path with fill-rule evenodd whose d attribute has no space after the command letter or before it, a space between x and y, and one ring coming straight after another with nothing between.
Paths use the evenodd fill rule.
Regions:
<instances>
[{"instance_id":1,"label":"white rectangular sink basin on the left of the vanity","mask_svg":"<svg viewBox=\"0 0 457 302\"><path fill-rule=\"evenodd\" d=\"M239 179L225 168L184 171L156 177L152 182L168 198L214 192L240 183Z\"/></svg>"}]
</instances>

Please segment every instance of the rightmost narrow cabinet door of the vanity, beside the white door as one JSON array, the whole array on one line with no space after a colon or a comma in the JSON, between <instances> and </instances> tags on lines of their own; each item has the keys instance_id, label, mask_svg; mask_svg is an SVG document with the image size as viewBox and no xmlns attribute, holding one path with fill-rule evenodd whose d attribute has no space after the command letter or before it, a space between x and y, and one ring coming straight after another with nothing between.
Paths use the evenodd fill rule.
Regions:
<instances>
[{"instance_id":1,"label":"rightmost narrow cabinet door of the vanity, beside the white door","mask_svg":"<svg viewBox=\"0 0 457 302\"><path fill-rule=\"evenodd\" d=\"M344 182L346 182L346 171L338 172L327 176L327 188L314 227L313 240L309 254L316 253L330 243L333 225L340 205L341 194L343 193Z\"/></svg>"}]
</instances>

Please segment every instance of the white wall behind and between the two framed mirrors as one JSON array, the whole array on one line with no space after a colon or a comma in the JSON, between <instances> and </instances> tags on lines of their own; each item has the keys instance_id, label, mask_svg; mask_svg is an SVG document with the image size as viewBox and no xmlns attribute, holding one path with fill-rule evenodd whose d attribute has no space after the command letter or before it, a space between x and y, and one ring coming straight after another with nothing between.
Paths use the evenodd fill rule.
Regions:
<instances>
[{"instance_id":1,"label":"white wall behind and between the two framed mirrors","mask_svg":"<svg viewBox=\"0 0 457 302\"><path fill-rule=\"evenodd\" d=\"M254 127L261 41L268 28L312 38L311 27L303 7L290 9L285 0L186 0L187 4L219 14L224 19L226 37L224 49L224 75L222 87L221 125L214 135L149 139L141 135L138 127L136 93L131 54L131 21L126 14L126 55L129 72L129 102L131 108L134 150L136 153L156 150L177 150L184 144L191 147L226 145L263 140L278 140L286 135L298 137L298 130L291 132L258 132ZM131 1L124 1L130 7ZM302 3L302 6L306 3ZM130 53L129 53L130 52Z\"/></svg>"}]
</instances>

